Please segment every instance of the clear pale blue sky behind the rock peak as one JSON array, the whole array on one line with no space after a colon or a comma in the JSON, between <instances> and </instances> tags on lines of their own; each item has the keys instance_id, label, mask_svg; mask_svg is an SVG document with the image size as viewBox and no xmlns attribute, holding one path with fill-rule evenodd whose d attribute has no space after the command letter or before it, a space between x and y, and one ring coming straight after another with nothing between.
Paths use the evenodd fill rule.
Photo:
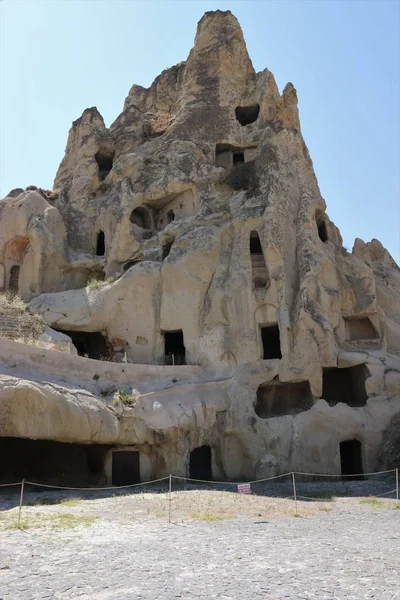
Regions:
<instances>
[{"instance_id":1,"label":"clear pale blue sky behind the rock peak","mask_svg":"<svg viewBox=\"0 0 400 600\"><path fill-rule=\"evenodd\" d=\"M187 58L207 10L239 19L254 67L298 91L303 135L344 244L400 260L400 4L396 0L3 0L0 197L51 188L71 122L106 125L133 83Z\"/></svg>"}]
</instances>

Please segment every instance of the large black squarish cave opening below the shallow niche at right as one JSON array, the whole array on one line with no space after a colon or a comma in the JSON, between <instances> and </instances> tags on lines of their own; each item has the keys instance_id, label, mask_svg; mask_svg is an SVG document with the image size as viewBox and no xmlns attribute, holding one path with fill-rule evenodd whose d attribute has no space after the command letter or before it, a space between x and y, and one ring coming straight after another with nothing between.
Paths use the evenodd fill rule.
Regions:
<instances>
[{"instance_id":1,"label":"large black squarish cave opening below the shallow niche at right","mask_svg":"<svg viewBox=\"0 0 400 600\"><path fill-rule=\"evenodd\" d=\"M329 406L344 402L349 406L365 406L368 395L365 381L369 371L365 365L344 369L324 369L322 373L322 398Z\"/></svg>"}]
</instances>

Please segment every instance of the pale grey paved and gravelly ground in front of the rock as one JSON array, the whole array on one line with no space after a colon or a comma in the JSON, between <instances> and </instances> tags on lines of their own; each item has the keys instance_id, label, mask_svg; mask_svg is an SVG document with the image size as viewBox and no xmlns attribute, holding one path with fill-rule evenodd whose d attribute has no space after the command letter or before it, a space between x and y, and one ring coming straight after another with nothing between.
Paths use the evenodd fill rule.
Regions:
<instances>
[{"instance_id":1,"label":"pale grey paved and gravelly ground in front of the rock","mask_svg":"<svg viewBox=\"0 0 400 600\"><path fill-rule=\"evenodd\" d=\"M300 487L314 500L298 502L296 518L293 500L265 490L188 486L172 496L172 523L154 490L28 492L24 531L17 490L2 492L0 599L400 600L395 501L363 500L369 482L347 483L341 492L356 497L344 498L326 483Z\"/></svg>"}]
</instances>

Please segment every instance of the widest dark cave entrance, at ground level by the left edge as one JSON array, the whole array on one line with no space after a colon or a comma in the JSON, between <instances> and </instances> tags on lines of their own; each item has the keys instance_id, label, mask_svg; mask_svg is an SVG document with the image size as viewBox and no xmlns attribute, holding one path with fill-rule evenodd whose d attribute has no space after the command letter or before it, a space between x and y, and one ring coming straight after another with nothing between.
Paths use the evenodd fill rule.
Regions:
<instances>
[{"instance_id":1,"label":"widest dark cave entrance, at ground level by the left edge","mask_svg":"<svg viewBox=\"0 0 400 600\"><path fill-rule=\"evenodd\" d=\"M0 438L0 481L49 485L100 485L109 446Z\"/></svg>"}]
</instances>

